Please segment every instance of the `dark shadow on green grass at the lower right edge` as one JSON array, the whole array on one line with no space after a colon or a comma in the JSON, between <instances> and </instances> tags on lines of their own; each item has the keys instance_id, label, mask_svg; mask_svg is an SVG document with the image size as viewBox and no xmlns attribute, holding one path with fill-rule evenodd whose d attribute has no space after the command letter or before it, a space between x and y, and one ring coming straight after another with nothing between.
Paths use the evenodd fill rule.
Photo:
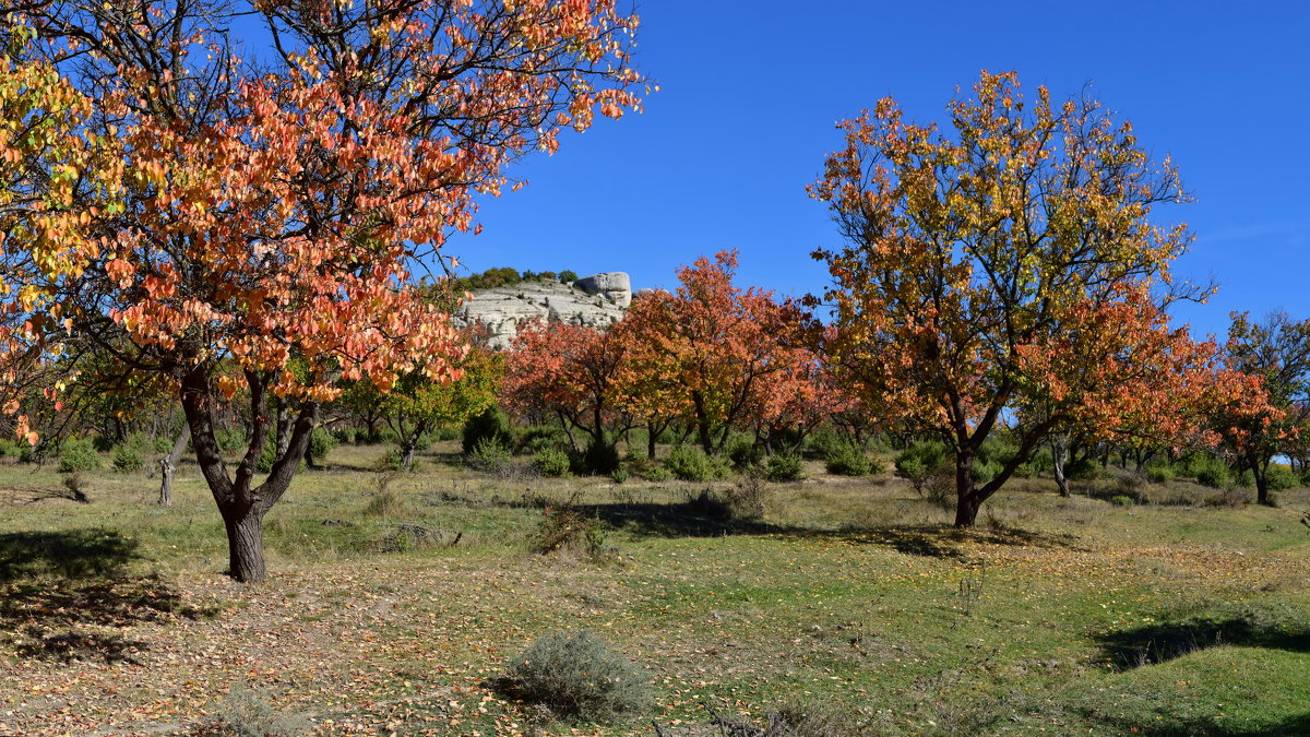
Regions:
<instances>
[{"instance_id":1,"label":"dark shadow on green grass at the lower right edge","mask_svg":"<svg viewBox=\"0 0 1310 737\"><path fill-rule=\"evenodd\" d=\"M1102 658L1117 670L1169 662L1217 645L1310 652L1310 627L1250 614L1192 616L1120 629L1098 637Z\"/></svg>"}]
</instances>

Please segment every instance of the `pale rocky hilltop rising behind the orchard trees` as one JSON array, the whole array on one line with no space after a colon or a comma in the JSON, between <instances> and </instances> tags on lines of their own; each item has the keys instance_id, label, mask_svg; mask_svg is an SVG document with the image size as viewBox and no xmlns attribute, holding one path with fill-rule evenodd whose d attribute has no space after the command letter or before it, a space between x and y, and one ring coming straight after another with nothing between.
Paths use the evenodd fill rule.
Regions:
<instances>
[{"instance_id":1,"label":"pale rocky hilltop rising behind the orchard trees","mask_svg":"<svg viewBox=\"0 0 1310 737\"><path fill-rule=\"evenodd\" d=\"M608 328L624 317L633 302L627 274L608 271L572 283L529 279L515 285L473 291L473 299L455 311L457 327L481 323L491 330L491 346L507 348L519 332L519 321L546 320Z\"/></svg>"}]
</instances>

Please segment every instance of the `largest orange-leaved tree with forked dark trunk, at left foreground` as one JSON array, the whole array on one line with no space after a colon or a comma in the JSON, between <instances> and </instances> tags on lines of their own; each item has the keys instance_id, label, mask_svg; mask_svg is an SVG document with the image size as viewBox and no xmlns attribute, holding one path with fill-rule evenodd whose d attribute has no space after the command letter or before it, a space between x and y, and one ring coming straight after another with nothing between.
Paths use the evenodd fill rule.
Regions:
<instances>
[{"instance_id":1,"label":"largest orange-leaved tree with forked dark trunk, at left foreground","mask_svg":"<svg viewBox=\"0 0 1310 737\"><path fill-rule=\"evenodd\" d=\"M249 60L238 17L262 22ZM511 164L637 106L635 26L612 0L25 3L0 62L7 355L77 336L174 382L229 572L265 578L262 519L320 405L339 379L460 378L466 345L411 271ZM232 469L215 412L238 389ZM270 397L291 430L258 480Z\"/></svg>"}]
</instances>

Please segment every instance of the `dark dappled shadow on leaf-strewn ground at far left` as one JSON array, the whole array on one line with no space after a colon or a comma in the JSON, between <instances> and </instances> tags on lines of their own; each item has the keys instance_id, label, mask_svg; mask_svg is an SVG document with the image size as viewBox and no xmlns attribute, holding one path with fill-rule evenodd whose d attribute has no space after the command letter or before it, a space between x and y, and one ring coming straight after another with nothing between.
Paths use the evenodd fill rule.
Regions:
<instances>
[{"instance_id":1,"label":"dark dappled shadow on leaf-strewn ground at far left","mask_svg":"<svg viewBox=\"0 0 1310 737\"><path fill-rule=\"evenodd\" d=\"M138 543L107 530L0 535L0 640L20 657L135 664L147 643L114 632L207 612L159 576L131 576Z\"/></svg>"}]
</instances>

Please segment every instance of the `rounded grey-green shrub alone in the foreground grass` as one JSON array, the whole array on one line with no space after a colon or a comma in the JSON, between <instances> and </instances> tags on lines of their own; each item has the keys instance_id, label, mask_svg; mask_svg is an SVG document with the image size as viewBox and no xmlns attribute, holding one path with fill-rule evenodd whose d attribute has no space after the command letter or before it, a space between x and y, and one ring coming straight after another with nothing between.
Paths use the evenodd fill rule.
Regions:
<instances>
[{"instance_id":1,"label":"rounded grey-green shrub alone in the foreground grass","mask_svg":"<svg viewBox=\"0 0 1310 737\"><path fill-rule=\"evenodd\" d=\"M583 721L612 721L654 704L647 674L595 632L552 632L506 664L498 687Z\"/></svg>"}]
</instances>

